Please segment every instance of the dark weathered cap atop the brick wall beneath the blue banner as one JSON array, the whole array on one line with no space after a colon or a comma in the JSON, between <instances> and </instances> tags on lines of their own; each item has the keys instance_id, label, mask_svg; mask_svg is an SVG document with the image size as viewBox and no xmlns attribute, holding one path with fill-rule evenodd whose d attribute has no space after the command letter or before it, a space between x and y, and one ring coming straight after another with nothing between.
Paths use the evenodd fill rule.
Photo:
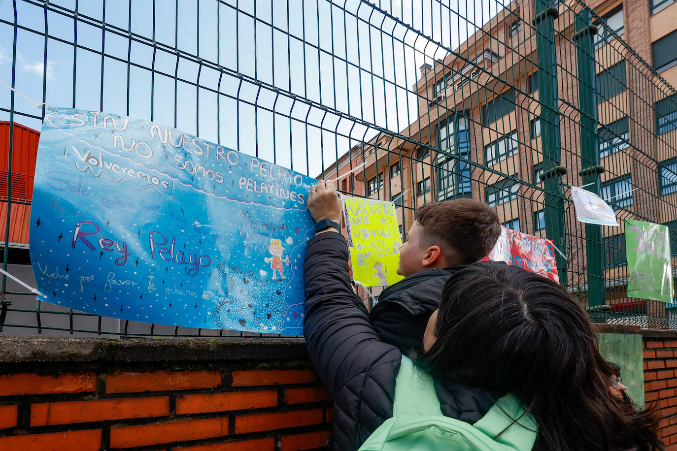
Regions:
<instances>
[{"instance_id":1,"label":"dark weathered cap atop the brick wall beneath the blue banner","mask_svg":"<svg viewBox=\"0 0 677 451\"><path fill-rule=\"evenodd\" d=\"M0 336L0 364L307 359L303 338L81 338Z\"/></svg>"}]
</instances>

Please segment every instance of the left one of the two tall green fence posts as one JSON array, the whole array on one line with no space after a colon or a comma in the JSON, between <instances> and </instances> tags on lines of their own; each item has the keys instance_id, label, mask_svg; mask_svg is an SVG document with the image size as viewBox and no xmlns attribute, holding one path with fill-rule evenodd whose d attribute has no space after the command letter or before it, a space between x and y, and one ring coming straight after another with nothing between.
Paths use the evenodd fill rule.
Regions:
<instances>
[{"instance_id":1,"label":"left one of the two tall green fence posts","mask_svg":"<svg viewBox=\"0 0 677 451\"><path fill-rule=\"evenodd\" d=\"M560 166L560 136L557 64L555 61L554 19L559 16L550 0L534 0L533 26L536 29L536 54L538 64L538 99L541 106L541 142L543 147L543 179L545 181L544 215L546 233L560 252L565 250L564 197L562 174L567 169ZM567 260L559 252L554 254L559 281L567 284Z\"/></svg>"}]
</instances>

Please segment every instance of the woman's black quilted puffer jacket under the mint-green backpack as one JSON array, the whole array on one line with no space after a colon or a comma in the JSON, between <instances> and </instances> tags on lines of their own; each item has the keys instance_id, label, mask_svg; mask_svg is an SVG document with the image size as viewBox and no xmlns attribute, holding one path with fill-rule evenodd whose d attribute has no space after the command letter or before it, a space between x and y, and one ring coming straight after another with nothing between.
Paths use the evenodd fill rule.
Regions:
<instances>
[{"instance_id":1,"label":"woman's black quilted puffer jacket under the mint-green backpack","mask_svg":"<svg viewBox=\"0 0 677 451\"><path fill-rule=\"evenodd\" d=\"M308 353L334 399L334 450L353 451L393 416L401 352L378 337L356 304L348 272L348 246L339 233L307 243L303 331ZM447 417L475 423L500 398L435 382Z\"/></svg>"}]
</instances>

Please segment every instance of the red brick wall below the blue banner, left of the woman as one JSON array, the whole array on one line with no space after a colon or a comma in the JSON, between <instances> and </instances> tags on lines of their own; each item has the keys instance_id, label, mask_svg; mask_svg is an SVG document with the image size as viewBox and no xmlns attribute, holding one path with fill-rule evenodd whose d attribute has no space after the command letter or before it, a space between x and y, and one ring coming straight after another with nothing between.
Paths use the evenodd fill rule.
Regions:
<instances>
[{"instance_id":1,"label":"red brick wall below the blue banner, left of the woman","mask_svg":"<svg viewBox=\"0 0 677 451\"><path fill-rule=\"evenodd\" d=\"M332 403L307 360L242 357L2 365L0 450L328 449Z\"/></svg>"}]
</instances>

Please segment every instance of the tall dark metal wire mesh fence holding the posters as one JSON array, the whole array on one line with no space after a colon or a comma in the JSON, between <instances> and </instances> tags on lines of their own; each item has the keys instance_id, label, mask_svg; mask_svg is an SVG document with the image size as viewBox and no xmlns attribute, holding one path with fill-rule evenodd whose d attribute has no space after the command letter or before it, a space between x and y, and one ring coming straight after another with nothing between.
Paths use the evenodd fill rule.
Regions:
<instances>
[{"instance_id":1,"label":"tall dark metal wire mesh fence holding the posters","mask_svg":"<svg viewBox=\"0 0 677 451\"><path fill-rule=\"evenodd\" d=\"M424 202L486 201L554 241L596 321L677 328L677 304L628 298L622 225L577 222L569 197L588 185L619 220L668 224L677 254L677 91L619 33L577 0L15 0L0 3L0 80L338 178L394 201L402 231ZM12 191L14 126L41 119L0 87L5 243L12 205L30 205ZM30 279L17 252L5 245L4 267ZM74 312L12 284L1 333L234 334Z\"/></svg>"}]
</instances>

